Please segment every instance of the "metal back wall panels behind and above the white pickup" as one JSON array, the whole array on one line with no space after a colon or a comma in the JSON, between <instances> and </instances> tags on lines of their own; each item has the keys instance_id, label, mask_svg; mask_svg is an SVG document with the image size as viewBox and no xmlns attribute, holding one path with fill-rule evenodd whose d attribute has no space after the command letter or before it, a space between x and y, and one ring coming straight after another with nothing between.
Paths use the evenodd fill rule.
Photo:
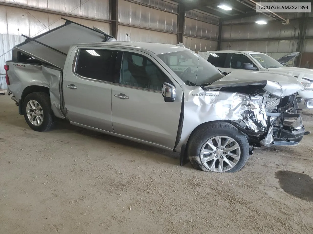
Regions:
<instances>
[{"instance_id":1,"label":"metal back wall panels behind and above the white pickup","mask_svg":"<svg viewBox=\"0 0 313 234\"><path fill-rule=\"evenodd\" d=\"M258 25L259 16L225 21L222 27L221 50L246 50L283 55L297 50L301 13L288 14L290 24L284 25L271 20L266 25ZM312 13L309 15L312 16ZM268 20L268 18L267 18ZM303 52L313 52L313 18L307 22ZM275 55L276 54L276 55Z\"/></svg>"}]
</instances>

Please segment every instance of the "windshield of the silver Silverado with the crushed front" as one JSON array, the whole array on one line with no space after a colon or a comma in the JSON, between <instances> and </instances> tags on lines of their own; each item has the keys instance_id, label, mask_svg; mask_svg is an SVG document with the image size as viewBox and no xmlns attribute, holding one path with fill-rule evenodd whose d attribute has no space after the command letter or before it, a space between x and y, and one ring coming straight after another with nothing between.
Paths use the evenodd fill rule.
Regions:
<instances>
[{"instance_id":1,"label":"windshield of the silver Silverado with the crushed front","mask_svg":"<svg viewBox=\"0 0 313 234\"><path fill-rule=\"evenodd\" d=\"M158 55L187 85L206 85L224 75L211 63L191 50ZM198 74L197 74L198 71Z\"/></svg>"}]
</instances>

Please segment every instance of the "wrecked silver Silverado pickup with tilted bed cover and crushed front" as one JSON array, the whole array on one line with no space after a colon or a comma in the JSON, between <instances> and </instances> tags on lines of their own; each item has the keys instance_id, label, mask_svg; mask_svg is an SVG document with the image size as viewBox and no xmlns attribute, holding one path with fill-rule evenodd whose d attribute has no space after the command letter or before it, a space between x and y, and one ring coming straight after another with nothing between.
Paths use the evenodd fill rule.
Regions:
<instances>
[{"instance_id":1,"label":"wrecked silver Silverado pickup with tilted bed cover and crushed front","mask_svg":"<svg viewBox=\"0 0 313 234\"><path fill-rule=\"evenodd\" d=\"M88 43L87 43L88 42ZM9 95L28 125L56 118L180 152L181 165L235 172L254 148L296 145L305 132L293 76L216 67L182 45L117 42L97 28L64 25L14 46Z\"/></svg>"}]
</instances>

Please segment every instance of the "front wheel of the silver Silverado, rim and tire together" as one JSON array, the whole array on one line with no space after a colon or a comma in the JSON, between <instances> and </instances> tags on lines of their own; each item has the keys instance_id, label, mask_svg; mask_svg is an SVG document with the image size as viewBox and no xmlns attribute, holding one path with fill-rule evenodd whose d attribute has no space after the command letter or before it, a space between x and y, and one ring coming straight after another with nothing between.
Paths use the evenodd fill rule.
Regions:
<instances>
[{"instance_id":1,"label":"front wheel of the silver Silverado, rim and tire together","mask_svg":"<svg viewBox=\"0 0 313 234\"><path fill-rule=\"evenodd\" d=\"M208 124L192 134L188 156L196 169L236 172L249 158L249 142L232 124Z\"/></svg>"}]
</instances>

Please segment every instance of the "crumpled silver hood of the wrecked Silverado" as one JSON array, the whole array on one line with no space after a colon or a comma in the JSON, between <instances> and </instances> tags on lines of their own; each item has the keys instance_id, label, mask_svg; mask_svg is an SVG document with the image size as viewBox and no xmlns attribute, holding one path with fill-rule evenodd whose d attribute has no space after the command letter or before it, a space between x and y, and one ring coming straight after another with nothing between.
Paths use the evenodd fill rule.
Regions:
<instances>
[{"instance_id":1,"label":"crumpled silver hood of the wrecked Silverado","mask_svg":"<svg viewBox=\"0 0 313 234\"><path fill-rule=\"evenodd\" d=\"M262 85L263 90L276 97L292 95L303 90L303 85L294 77L282 72L232 71L223 78L205 86L208 89Z\"/></svg>"}]
</instances>

